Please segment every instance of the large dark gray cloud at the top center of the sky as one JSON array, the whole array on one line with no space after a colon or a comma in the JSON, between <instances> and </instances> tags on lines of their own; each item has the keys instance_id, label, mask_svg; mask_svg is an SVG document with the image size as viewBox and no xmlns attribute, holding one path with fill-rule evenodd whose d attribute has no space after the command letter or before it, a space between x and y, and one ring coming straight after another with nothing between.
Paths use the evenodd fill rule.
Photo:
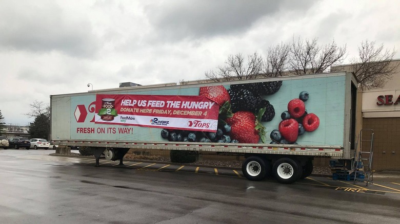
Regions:
<instances>
[{"instance_id":1,"label":"large dark gray cloud at the top center of the sky","mask_svg":"<svg viewBox=\"0 0 400 224\"><path fill-rule=\"evenodd\" d=\"M193 37L237 34L253 23L281 10L306 9L315 1L166 1L146 7L159 38L178 40Z\"/></svg>"}]
</instances>

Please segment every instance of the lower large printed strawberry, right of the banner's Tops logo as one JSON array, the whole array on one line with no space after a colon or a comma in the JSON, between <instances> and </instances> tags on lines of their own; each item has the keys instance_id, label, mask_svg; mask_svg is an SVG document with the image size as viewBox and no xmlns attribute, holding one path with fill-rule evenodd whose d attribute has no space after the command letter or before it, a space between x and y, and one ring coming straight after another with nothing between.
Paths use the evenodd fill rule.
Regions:
<instances>
[{"instance_id":1,"label":"lower large printed strawberry, right of the banner's Tops logo","mask_svg":"<svg viewBox=\"0 0 400 224\"><path fill-rule=\"evenodd\" d=\"M256 118L250 111L237 111L232 117L227 118L226 122L231 125L231 139L235 139L239 143L258 143L261 138L265 142L264 127L259 122L263 114L264 111L259 113Z\"/></svg>"}]
</instances>

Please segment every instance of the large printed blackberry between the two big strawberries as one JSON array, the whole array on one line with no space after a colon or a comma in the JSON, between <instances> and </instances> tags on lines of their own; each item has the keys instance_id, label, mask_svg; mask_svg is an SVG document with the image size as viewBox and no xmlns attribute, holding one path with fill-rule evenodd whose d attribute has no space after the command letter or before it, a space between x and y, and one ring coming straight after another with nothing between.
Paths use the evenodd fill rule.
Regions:
<instances>
[{"instance_id":1,"label":"large printed blackberry between the two big strawberries","mask_svg":"<svg viewBox=\"0 0 400 224\"><path fill-rule=\"evenodd\" d=\"M259 95L254 96L248 89L231 88L228 89L228 93L231 97L231 109L233 113L243 110L253 111L261 102L261 97Z\"/></svg>"}]
</instances>

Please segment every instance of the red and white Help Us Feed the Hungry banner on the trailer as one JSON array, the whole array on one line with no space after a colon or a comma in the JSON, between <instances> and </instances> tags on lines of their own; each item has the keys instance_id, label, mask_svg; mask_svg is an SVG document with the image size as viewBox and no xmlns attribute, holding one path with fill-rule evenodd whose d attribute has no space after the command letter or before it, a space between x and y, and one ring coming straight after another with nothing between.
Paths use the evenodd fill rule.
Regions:
<instances>
[{"instance_id":1,"label":"red and white Help Us Feed the Hungry banner on the trailer","mask_svg":"<svg viewBox=\"0 0 400 224\"><path fill-rule=\"evenodd\" d=\"M94 122L215 132L218 110L205 96L96 95Z\"/></svg>"}]
</instances>

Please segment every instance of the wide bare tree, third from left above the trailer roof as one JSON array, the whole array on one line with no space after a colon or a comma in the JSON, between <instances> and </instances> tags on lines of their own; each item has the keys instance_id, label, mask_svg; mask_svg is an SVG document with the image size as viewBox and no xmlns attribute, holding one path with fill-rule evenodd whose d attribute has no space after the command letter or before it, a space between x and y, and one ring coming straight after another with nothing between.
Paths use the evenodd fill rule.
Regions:
<instances>
[{"instance_id":1,"label":"wide bare tree, third from left above the trailer roof","mask_svg":"<svg viewBox=\"0 0 400 224\"><path fill-rule=\"evenodd\" d=\"M338 47L335 41L319 46L317 38L294 40L291 44L289 69L296 75L323 73L334 64L341 64L346 58L346 45Z\"/></svg>"}]
</instances>

